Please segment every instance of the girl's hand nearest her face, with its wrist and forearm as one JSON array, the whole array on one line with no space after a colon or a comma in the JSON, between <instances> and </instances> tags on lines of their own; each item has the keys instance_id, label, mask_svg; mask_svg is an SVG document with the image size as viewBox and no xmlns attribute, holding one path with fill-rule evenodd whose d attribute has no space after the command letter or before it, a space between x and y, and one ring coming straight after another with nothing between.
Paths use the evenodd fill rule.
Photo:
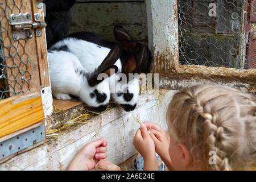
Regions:
<instances>
[{"instance_id":1,"label":"girl's hand nearest her face, with its wrist and forearm","mask_svg":"<svg viewBox=\"0 0 256 182\"><path fill-rule=\"evenodd\" d=\"M169 155L170 136L156 123L144 122L147 130L150 130L150 137L154 140L155 151L163 162L171 170L171 158Z\"/></svg>"}]
</instances>

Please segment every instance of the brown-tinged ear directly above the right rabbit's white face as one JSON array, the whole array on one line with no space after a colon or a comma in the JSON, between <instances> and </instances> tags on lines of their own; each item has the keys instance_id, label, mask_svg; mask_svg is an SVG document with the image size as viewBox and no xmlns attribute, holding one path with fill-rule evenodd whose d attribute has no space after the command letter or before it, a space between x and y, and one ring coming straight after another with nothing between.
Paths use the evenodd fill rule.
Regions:
<instances>
[{"instance_id":1,"label":"brown-tinged ear directly above the right rabbit's white face","mask_svg":"<svg viewBox=\"0 0 256 182\"><path fill-rule=\"evenodd\" d=\"M122 73L128 76L129 73L135 73L138 67L138 61L133 52L131 52L125 59L122 65Z\"/></svg>"}]
</instances>

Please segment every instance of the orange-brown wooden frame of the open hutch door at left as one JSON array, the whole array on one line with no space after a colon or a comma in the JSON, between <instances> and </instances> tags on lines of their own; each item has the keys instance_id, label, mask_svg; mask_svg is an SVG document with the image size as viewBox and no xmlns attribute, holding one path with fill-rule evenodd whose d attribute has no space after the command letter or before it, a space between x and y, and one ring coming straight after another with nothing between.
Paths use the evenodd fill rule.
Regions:
<instances>
[{"instance_id":1,"label":"orange-brown wooden frame of the open hutch door at left","mask_svg":"<svg viewBox=\"0 0 256 182\"><path fill-rule=\"evenodd\" d=\"M11 6L12 2L8 3L10 3ZM26 5L22 6L26 12L31 13L33 22L35 22L34 14L36 13L40 14L40 20L42 22L44 21L43 8L38 9L36 7L36 0L30 0ZM6 12L8 15L10 15L10 13L19 14L15 9L8 13ZM2 24L2 26L5 26L5 24ZM8 30L8 34L12 35L11 28L7 27L6 29ZM35 36L35 30L33 30L33 34L33 38L28 40L28 42L33 43L30 43L31 47L26 48L26 50L36 55L31 57L28 53L28 56L31 58L30 64L33 64L29 69L33 75L38 76L36 76L37 78L33 77L31 79L30 84L33 85L33 88L30 89L30 92L0 101L0 107L2 107L0 110L0 139L3 137L8 139L7 136L13 137L16 134L19 134L19 131L24 130L26 127L32 127L33 125L37 126L37 123L44 122L44 118L51 115L53 111L45 28L42 29L42 36ZM3 36L7 35L5 34ZM12 58L10 57L9 59L11 61ZM8 62L9 59L6 61ZM19 90L15 90L15 92L18 91Z\"/></svg>"}]
</instances>

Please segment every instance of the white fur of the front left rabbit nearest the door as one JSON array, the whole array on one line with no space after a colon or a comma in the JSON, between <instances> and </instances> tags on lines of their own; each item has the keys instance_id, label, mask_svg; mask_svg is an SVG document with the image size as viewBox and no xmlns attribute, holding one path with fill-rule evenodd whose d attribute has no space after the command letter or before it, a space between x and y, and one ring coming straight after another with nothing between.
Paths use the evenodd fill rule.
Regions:
<instances>
[{"instance_id":1,"label":"white fur of the front left rabbit nearest the door","mask_svg":"<svg viewBox=\"0 0 256 182\"><path fill-rule=\"evenodd\" d=\"M105 79L96 86L89 86L85 77L76 73L76 70L84 70L79 59L70 52L53 51L48 52L49 74L51 77L52 94L57 99L70 100L73 96L80 97L85 104L98 107L106 105L110 99L109 81ZM98 104L96 97L90 98L90 93L95 89L99 93L105 93L107 98Z\"/></svg>"}]
</instances>

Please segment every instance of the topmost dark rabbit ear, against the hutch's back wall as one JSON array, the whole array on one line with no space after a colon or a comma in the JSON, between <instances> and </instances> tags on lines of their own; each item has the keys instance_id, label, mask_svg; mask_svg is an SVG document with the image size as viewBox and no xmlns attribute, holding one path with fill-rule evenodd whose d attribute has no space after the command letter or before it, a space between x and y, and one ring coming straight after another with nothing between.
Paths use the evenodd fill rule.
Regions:
<instances>
[{"instance_id":1,"label":"topmost dark rabbit ear, against the hutch's back wall","mask_svg":"<svg viewBox=\"0 0 256 182\"><path fill-rule=\"evenodd\" d=\"M137 43L134 42L130 34L121 26L114 27L114 36L115 40L122 44L123 50L125 51L134 51L137 46Z\"/></svg>"}]
</instances>

